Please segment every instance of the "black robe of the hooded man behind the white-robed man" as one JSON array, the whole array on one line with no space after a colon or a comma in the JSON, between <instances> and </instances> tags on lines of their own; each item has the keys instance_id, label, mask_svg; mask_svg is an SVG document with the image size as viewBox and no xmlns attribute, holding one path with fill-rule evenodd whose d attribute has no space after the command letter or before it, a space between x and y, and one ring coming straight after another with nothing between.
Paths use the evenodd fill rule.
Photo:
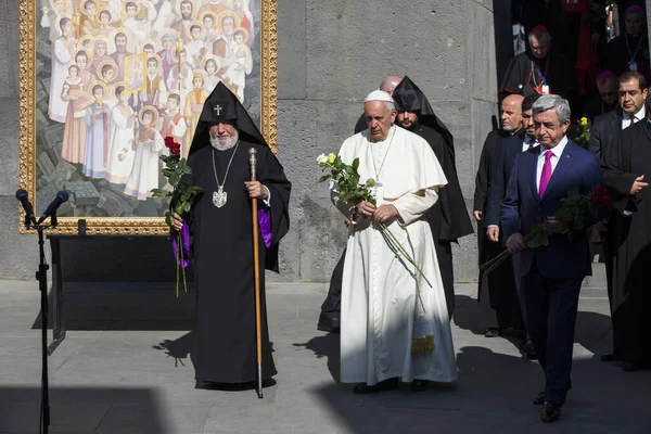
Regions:
<instances>
[{"instance_id":1,"label":"black robe of the hooded man behind the white-robed man","mask_svg":"<svg viewBox=\"0 0 651 434\"><path fill-rule=\"evenodd\" d=\"M456 243L461 237L473 233L473 228L461 193L455 155L448 151L445 139L434 128L422 124L419 124L411 132L419 135L430 143L448 181L438 191L438 201L427 212L427 221L434 238L446 304L451 318L455 311L455 273L451 244Z\"/></svg>"}]
</instances>

